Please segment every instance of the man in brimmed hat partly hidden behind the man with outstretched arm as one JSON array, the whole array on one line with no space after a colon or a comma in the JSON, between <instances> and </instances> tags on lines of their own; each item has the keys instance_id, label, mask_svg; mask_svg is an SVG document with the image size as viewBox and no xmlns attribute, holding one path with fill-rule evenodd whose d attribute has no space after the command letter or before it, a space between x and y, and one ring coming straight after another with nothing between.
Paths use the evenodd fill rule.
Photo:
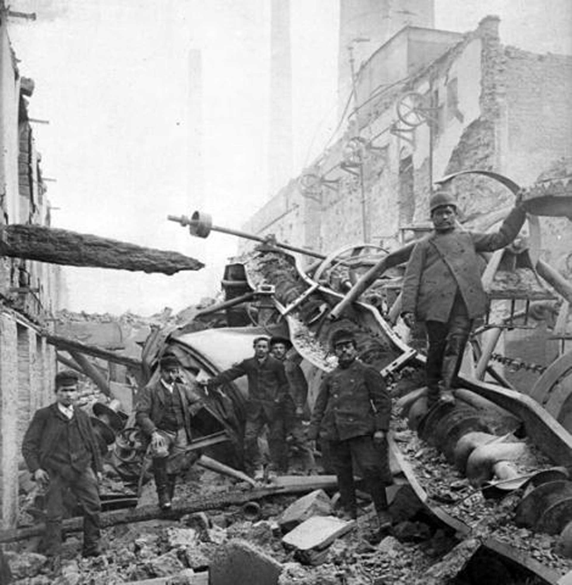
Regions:
<instances>
[{"instance_id":1,"label":"man in brimmed hat partly hidden behind the man with outstretched arm","mask_svg":"<svg viewBox=\"0 0 572 585\"><path fill-rule=\"evenodd\" d=\"M279 336L274 336L270 339L272 356L284 364L290 391L290 397L286 400L285 404L286 438L292 448L301 453L304 461L304 469L310 471L316 467L316 461L314 460L314 453L306 440L304 425L302 423L304 416L308 412L306 402L308 397L308 383L299 364L287 357L290 349L292 349L290 339Z\"/></svg>"}]
</instances>

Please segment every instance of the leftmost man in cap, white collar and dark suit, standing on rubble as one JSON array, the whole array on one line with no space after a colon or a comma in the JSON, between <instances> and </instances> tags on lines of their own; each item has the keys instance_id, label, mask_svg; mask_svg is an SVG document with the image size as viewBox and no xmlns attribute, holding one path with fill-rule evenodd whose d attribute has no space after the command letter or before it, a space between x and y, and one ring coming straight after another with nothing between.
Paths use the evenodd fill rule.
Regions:
<instances>
[{"instance_id":1,"label":"leftmost man in cap, white collar and dark suit, standing on rubble","mask_svg":"<svg viewBox=\"0 0 572 585\"><path fill-rule=\"evenodd\" d=\"M56 374L56 402L34 414L22 443L22 454L34 480L46 491L44 550L57 558L61 552L64 493L77 497L84 512L83 556L99 556L98 480L102 461L89 416L74 406L78 374Z\"/></svg>"}]
</instances>

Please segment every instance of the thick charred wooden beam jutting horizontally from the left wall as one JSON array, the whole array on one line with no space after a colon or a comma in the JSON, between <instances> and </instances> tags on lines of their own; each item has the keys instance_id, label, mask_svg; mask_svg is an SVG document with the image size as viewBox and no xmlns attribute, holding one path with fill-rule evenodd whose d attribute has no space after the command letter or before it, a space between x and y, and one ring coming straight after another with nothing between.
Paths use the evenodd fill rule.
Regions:
<instances>
[{"instance_id":1,"label":"thick charred wooden beam jutting horizontally from the left wall","mask_svg":"<svg viewBox=\"0 0 572 585\"><path fill-rule=\"evenodd\" d=\"M175 274L204 264L179 252L158 250L88 233L13 223L2 228L0 254L65 266Z\"/></svg>"}]
</instances>

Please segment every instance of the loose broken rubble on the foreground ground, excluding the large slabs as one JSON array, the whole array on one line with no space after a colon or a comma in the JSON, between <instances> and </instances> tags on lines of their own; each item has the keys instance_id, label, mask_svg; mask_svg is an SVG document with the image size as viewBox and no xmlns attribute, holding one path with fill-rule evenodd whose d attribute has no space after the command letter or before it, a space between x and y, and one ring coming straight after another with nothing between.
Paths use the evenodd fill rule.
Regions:
<instances>
[{"instance_id":1,"label":"loose broken rubble on the foreground ground, excluding the large slabs","mask_svg":"<svg viewBox=\"0 0 572 585\"><path fill-rule=\"evenodd\" d=\"M224 493L233 486L231 480L212 472L192 470L186 483L179 483L175 498ZM371 505L363 501L357 529L344 536L328 549L324 562L307 566L298 562L296 553L286 550L276 519L296 497L268 498L261 504L259 519L247 519L239 507L209 511L210 527L202 529L196 515L180 520L157 519L133 525L118 525L103 531L104 554L98 559L82 559L81 535L69 535L64 544L61 574L51 571L41 555L23 553L37 542L7 546L18 555L8 552L19 585L57 585L124 583L175 575L189 567L197 571L216 563L221 547L232 539L252 543L278 562L284 570L280 583L310 584L370 584L396 583L408 585L421 578L443 553L455 545L442 529L427 527L422 542L400 542L387 536L371 544L376 534L375 515ZM152 482L145 487L141 504L155 501ZM191 527L192 526L192 527ZM412 538L413 541L418 536ZM26 567L22 567L26 565ZM23 577L23 578L21 578ZM377 580L377 581L376 581Z\"/></svg>"}]
</instances>

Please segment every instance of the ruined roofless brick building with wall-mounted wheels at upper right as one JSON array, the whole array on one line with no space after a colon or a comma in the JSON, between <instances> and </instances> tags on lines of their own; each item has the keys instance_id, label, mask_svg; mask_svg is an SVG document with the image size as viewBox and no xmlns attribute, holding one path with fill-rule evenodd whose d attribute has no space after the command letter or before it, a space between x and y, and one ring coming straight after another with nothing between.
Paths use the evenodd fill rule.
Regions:
<instances>
[{"instance_id":1,"label":"ruined roofless brick building with wall-mounted wheels at upper right","mask_svg":"<svg viewBox=\"0 0 572 585\"><path fill-rule=\"evenodd\" d=\"M499 22L464 35L405 26L386 40L353 75L343 135L243 229L324 254L391 250L429 225L432 184L446 175L493 170L526 187L570 156L572 58L503 46ZM481 177L454 188L466 216L512 204ZM560 268L570 222L541 221L542 254Z\"/></svg>"}]
</instances>

